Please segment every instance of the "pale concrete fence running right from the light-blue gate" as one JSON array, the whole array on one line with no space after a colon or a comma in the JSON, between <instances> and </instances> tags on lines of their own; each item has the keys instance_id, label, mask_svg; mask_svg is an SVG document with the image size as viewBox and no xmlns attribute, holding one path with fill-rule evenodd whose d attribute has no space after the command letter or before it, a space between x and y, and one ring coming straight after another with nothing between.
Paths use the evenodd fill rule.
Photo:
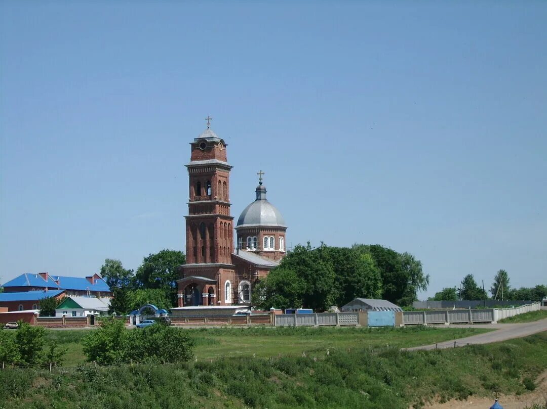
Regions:
<instances>
[{"instance_id":1,"label":"pale concrete fence running right from the light-blue gate","mask_svg":"<svg viewBox=\"0 0 547 409\"><path fill-rule=\"evenodd\" d=\"M461 324L474 322L497 322L530 311L539 311L541 304L533 303L515 308L490 308L484 310L433 310L405 311L403 325Z\"/></svg>"}]
</instances>

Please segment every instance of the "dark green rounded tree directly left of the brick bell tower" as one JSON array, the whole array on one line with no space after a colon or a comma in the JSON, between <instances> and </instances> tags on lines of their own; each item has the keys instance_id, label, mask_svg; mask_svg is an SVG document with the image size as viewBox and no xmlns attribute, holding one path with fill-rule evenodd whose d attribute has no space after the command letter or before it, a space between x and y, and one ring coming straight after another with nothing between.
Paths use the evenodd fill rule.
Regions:
<instances>
[{"instance_id":1,"label":"dark green rounded tree directly left of the brick bell tower","mask_svg":"<svg viewBox=\"0 0 547 409\"><path fill-rule=\"evenodd\" d=\"M181 251L161 250L157 254L149 254L143 259L135 274L139 288L161 289L171 300L170 307L177 302L177 280L179 266L186 262Z\"/></svg>"}]
</instances>

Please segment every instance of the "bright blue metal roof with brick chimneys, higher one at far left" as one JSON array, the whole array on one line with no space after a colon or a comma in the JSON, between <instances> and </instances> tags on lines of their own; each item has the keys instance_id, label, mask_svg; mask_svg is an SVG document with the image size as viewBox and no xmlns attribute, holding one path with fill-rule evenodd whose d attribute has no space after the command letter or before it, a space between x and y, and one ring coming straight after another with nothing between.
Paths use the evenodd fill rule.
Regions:
<instances>
[{"instance_id":1,"label":"bright blue metal roof with brick chimneys, higher one at far left","mask_svg":"<svg viewBox=\"0 0 547 409\"><path fill-rule=\"evenodd\" d=\"M48 275L48 280L44 280L39 274L26 272L13 280L3 284L2 287L48 287L79 291L110 291L107 283L102 278L94 278L94 284L85 277L65 277ZM58 283L57 283L58 281Z\"/></svg>"}]
</instances>

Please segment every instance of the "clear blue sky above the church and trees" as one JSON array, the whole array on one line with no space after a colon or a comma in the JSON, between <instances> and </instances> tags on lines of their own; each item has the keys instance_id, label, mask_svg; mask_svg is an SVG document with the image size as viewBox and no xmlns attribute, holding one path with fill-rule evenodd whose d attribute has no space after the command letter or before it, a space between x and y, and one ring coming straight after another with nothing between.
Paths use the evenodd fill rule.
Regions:
<instances>
[{"instance_id":1,"label":"clear blue sky above the church and trees","mask_svg":"<svg viewBox=\"0 0 547 409\"><path fill-rule=\"evenodd\" d=\"M287 244L547 282L547 2L0 3L0 282L185 248L189 142Z\"/></svg>"}]
</instances>

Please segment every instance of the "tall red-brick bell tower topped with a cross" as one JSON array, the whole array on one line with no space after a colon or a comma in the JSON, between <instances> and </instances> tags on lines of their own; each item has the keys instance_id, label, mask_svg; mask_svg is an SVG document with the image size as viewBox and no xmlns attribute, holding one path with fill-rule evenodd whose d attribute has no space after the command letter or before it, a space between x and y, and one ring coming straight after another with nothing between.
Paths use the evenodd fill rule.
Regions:
<instances>
[{"instance_id":1,"label":"tall red-brick bell tower topped with a cross","mask_svg":"<svg viewBox=\"0 0 547 409\"><path fill-rule=\"evenodd\" d=\"M178 280L178 306L223 305L220 288L234 280L233 217L230 215L230 170L226 143L211 128L191 145L186 263Z\"/></svg>"}]
</instances>

